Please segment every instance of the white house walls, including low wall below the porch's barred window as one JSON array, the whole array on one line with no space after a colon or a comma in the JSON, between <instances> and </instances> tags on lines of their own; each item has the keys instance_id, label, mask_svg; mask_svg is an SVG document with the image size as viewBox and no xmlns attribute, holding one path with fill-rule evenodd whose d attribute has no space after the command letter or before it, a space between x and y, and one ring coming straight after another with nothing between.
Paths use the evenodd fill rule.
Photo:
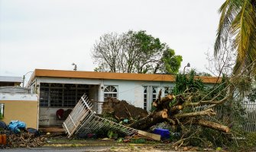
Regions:
<instances>
[{"instance_id":1,"label":"white house walls, including low wall below the porch's barred window","mask_svg":"<svg viewBox=\"0 0 256 152\"><path fill-rule=\"evenodd\" d=\"M118 89L118 100L126 100L137 107L144 107L144 86L157 87L157 93L160 88L173 87L173 82L161 81L122 81L122 80L100 80L100 79L82 79L82 78L36 78L35 86L40 83L59 83L59 84L91 84L89 88L90 100L104 101L105 86L113 85ZM39 93L39 87L37 87ZM101 103L99 103L101 104ZM98 111L101 112L101 106L98 105ZM63 121L56 119L56 111L60 108L41 107L39 113L40 125L61 125ZM61 108L68 109L68 108Z\"/></svg>"}]
</instances>

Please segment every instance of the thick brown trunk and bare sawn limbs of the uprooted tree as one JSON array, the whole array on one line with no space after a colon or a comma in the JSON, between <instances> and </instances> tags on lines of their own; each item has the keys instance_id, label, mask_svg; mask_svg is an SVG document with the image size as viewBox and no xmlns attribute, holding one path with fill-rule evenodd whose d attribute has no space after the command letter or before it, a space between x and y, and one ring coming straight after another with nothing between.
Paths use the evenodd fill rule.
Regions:
<instances>
[{"instance_id":1,"label":"thick brown trunk and bare sawn limbs of the uprooted tree","mask_svg":"<svg viewBox=\"0 0 256 152\"><path fill-rule=\"evenodd\" d=\"M166 97L161 97L161 90L158 93L158 98L152 105L154 106L154 112L151 112L147 117L139 119L137 122L128 125L131 128L140 130L146 130L151 126L161 122L168 122L170 125L201 125L206 128L212 128L218 131L228 133L230 128L228 126L211 122L203 116L215 116L216 112L212 108L206 108L198 111L189 111L193 106L204 105L216 105L221 104L225 97L219 101L199 101L197 103L191 103L184 99L183 96L175 97L172 94ZM210 106L209 106L210 107Z\"/></svg>"}]
</instances>

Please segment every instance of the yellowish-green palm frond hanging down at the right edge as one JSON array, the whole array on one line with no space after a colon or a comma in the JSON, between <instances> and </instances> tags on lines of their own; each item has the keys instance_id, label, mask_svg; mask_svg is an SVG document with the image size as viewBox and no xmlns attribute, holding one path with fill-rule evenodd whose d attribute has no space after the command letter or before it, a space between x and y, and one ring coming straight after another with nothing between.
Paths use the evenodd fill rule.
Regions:
<instances>
[{"instance_id":1,"label":"yellowish-green palm frond hanging down at the right edge","mask_svg":"<svg viewBox=\"0 0 256 152\"><path fill-rule=\"evenodd\" d=\"M253 58L255 44L252 43L255 38L255 11L249 0L241 1L241 9L232 21L230 33L234 36L234 46L238 52L237 62L245 67L250 63L250 56ZM255 58L255 56L254 56ZM234 73L239 73L239 69L234 69ZM238 70L238 71L236 71Z\"/></svg>"}]
</instances>

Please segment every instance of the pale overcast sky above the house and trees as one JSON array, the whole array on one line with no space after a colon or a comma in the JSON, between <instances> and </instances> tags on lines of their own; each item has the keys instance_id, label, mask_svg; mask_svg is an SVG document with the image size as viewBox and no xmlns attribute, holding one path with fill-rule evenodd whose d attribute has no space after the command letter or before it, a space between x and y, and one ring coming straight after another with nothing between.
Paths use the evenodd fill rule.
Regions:
<instances>
[{"instance_id":1,"label":"pale overcast sky above the house and trees","mask_svg":"<svg viewBox=\"0 0 256 152\"><path fill-rule=\"evenodd\" d=\"M0 75L35 68L93 71L92 45L104 33L146 30L206 71L224 0L0 0ZM29 75L29 74L28 74Z\"/></svg>"}]
</instances>

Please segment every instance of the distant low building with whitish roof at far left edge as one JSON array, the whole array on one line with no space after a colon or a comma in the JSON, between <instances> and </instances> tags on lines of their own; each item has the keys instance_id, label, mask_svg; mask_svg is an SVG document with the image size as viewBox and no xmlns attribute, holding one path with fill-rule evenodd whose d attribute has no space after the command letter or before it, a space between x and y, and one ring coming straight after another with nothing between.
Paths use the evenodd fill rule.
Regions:
<instances>
[{"instance_id":1,"label":"distant low building with whitish roof at far left edge","mask_svg":"<svg viewBox=\"0 0 256 152\"><path fill-rule=\"evenodd\" d=\"M0 87L19 86L21 82L21 77L0 76Z\"/></svg>"}]
</instances>

